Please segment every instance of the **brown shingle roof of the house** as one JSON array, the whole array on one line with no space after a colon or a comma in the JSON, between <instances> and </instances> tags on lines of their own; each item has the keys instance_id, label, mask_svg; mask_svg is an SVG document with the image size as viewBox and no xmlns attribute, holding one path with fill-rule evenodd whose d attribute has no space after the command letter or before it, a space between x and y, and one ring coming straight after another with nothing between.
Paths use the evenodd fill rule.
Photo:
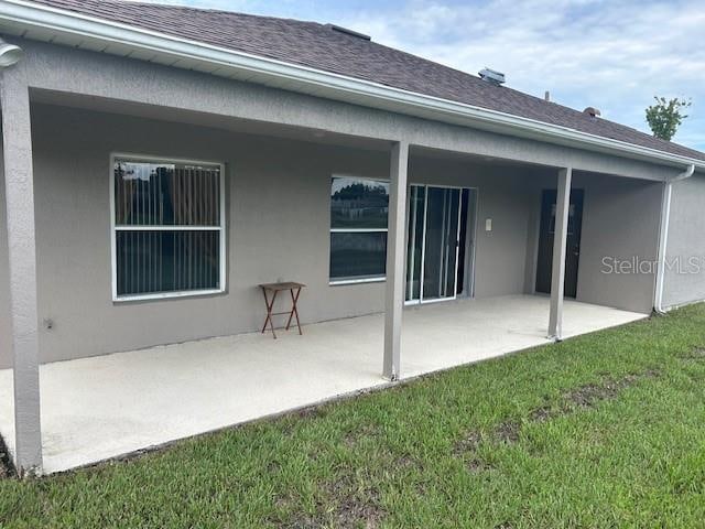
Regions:
<instances>
[{"instance_id":1,"label":"brown shingle roof of the house","mask_svg":"<svg viewBox=\"0 0 705 529\"><path fill-rule=\"evenodd\" d=\"M163 34L530 118L682 156L705 153L315 22L121 0L34 0Z\"/></svg>"}]
</instances>

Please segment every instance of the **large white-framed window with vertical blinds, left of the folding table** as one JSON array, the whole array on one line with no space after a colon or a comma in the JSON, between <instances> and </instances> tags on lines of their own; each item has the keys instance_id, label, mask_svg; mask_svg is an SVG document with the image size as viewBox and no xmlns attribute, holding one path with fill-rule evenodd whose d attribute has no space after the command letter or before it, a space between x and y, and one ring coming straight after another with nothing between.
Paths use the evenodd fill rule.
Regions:
<instances>
[{"instance_id":1,"label":"large white-framed window with vertical blinds, left of the folding table","mask_svg":"<svg viewBox=\"0 0 705 529\"><path fill-rule=\"evenodd\" d=\"M112 162L113 300L223 292L223 165Z\"/></svg>"}]
</instances>

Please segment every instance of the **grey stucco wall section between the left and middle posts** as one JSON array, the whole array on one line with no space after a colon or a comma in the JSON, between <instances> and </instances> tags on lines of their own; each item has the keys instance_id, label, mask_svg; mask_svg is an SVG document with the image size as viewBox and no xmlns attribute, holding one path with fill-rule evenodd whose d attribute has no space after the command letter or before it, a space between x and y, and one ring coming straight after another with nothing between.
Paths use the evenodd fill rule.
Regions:
<instances>
[{"instance_id":1,"label":"grey stucco wall section between the left and middle posts","mask_svg":"<svg viewBox=\"0 0 705 529\"><path fill-rule=\"evenodd\" d=\"M39 107L34 116L42 360L252 331L256 285L297 280L305 322L379 310L382 289L327 285L332 173L387 175L383 153L257 140L208 129ZM227 293L113 303L109 155L133 152L227 165Z\"/></svg>"}]
</instances>

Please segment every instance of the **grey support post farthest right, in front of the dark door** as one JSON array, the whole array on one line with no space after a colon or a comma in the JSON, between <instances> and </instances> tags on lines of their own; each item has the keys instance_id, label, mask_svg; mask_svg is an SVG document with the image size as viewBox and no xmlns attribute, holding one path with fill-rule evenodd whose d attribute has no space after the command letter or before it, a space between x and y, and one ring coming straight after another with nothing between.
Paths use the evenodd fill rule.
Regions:
<instances>
[{"instance_id":1,"label":"grey support post farthest right, in front of the dark door","mask_svg":"<svg viewBox=\"0 0 705 529\"><path fill-rule=\"evenodd\" d=\"M551 272L551 313L549 338L563 339L563 293L565 290L565 252L571 208L571 180L573 169L558 171L558 191L555 203L555 227L553 233L553 267Z\"/></svg>"}]
</instances>

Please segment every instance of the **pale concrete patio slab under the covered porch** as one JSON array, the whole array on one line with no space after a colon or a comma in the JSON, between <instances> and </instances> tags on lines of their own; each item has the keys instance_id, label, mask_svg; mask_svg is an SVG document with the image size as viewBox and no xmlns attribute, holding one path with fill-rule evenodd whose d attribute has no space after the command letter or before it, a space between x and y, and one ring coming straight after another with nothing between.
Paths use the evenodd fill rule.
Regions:
<instances>
[{"instance_id":1,"label":"pale concrete patio slab under the covered porch","mask_svg":"<svg viewBox=\"0 0 705 529\"><path fill-rule=\"evenodd\" d=\"M565 302L565 336L644 314ZM402 378L549 343L549 299L517 295L404 311ZM246 334L41 367L44 472L375 388L383 315ZM14 444L12 371L0 370L0 432Z\"/></svg>"}]
</instances>

